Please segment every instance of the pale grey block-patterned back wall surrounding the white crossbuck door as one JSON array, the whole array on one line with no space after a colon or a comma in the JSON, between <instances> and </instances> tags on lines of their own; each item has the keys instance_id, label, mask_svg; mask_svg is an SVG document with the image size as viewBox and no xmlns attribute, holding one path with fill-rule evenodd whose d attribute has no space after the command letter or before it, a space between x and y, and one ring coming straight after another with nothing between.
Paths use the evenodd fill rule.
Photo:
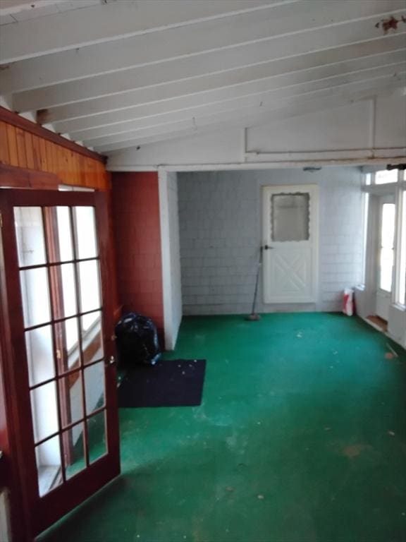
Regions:
<instances>
[{"instance_id":1,"label":"pale grey block-patterned back wall surrounding the white crossbuck door","mask_svg":"<svg viewBox=\"0 0 406 542\"><path fill-rule=\"evenodd\" d=\"M363 195L357 167L178 174L183 313L249 313L262 243L262 186L319 185L317 303L265 304L259 312L340 311L362 282Z\"/></svg>"}]
</instances>

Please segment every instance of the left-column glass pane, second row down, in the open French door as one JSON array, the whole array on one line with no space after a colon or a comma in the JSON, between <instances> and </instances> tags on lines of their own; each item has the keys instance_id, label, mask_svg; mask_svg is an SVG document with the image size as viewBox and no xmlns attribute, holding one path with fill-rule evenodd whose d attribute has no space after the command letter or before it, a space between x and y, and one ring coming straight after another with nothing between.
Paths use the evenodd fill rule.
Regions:
<instances>
[{"instance_id":1,"label":"left-column glass pane, second row down, in the open French door","mask_svg":"<svg viewBox=\"0 0 406 542\"><path fill-rule=\"evenodd\" d=\"M20 271L20 284L25 327L49 322L51 312L47 268Z\"/></svg>"}]
</instances>

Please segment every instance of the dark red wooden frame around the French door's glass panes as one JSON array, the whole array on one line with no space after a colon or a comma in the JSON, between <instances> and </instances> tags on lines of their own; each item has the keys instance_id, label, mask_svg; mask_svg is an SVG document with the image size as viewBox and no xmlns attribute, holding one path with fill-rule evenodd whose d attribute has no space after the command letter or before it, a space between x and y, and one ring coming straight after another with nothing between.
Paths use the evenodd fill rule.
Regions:
<instances>
[{"instance_id":1,"label":"dark red wooden frame around the French door's glass panes","mask_svg":"<svg viewBox=\"0 0 406 542\"><path fill-rule=\"evenodd\" d=\"M41 203L39 203L41 198ZM48 200L48 201L47 201ZM113 340L113 299L111 296L111 260L110 260L110 222L107 194L103 192L76 192L76 191L1 191L0 210L3 225L8 231L13 231L13 207L18 205L54 206L54 205L90 205L95 207L99 240L99 261L101 275L101 299L103 300L103 329L105 340L105 359L115 355ZM15 443L11 450L11 460L18 473L18 485L21 488L19 502L13 502L13 510L19 507L23 514L25 528L18 540L31 541L50 524L66 514L78 504L75 491L81 489L82 500L90 497L99 490L104 483L108 483L112 476L120 473L119 440L118 440L118 408L116 398L116 368L106 367L106 416L109 434L106 435L108 442L108 454L97 459L99 476L95 478L92 473L85 471L70 478L65 485L55 488L41 498L42 506L47 508L47 517L41 517L32 510L32 503L39 502L37 496L36 481L32 476L37 476L35 451L33 443L32 420L25 419L24 414L30 412L30 397L27 393L27 363L25 344L23 341L13 340L16 335L22 336L24 329L23 314L16 307L16 294L20 300L20 279L18 270L18 254L16 242L3 243L1 235L0 251L0 285L1 285L1 325L0 333L2 346L5 346L1 356L1 371L6 382L11 386L6 389L6 404L8 405L7 423L8 433ZM5 262L7 261L7 265ZM21 306L21 300L20 300ZM16 360L20 360L16 363ZM63 457L62 464L63 464ZM86 476L86 474L88 476ZM30 478L31 477L31 478ZM64 493L61 490L64 489ZM63 495L63 500L61 496ZM59 496L59 500L58 500ZM18 508L17 508L18 510ZM21 521L21 519L20 519Z\"/></svg>"}]
</instances>

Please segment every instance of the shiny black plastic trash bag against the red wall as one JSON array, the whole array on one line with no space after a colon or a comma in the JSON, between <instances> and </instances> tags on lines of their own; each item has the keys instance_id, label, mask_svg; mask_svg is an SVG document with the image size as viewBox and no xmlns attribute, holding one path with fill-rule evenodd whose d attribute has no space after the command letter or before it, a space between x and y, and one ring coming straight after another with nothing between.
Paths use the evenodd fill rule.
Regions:
<instances>
[{"instance_id":1,"label":"shiny black plastic trash bag against the red wall","mask_svg":"<svg viewBox=\"0 0 406 542\"><path fill-rule=\"evenodd\" d=\"M141 314L128 313L118 320L116 344L121 367L141 363L155 365L161 359L156 325L151 318Z\"/></svg>"}]
</instances>

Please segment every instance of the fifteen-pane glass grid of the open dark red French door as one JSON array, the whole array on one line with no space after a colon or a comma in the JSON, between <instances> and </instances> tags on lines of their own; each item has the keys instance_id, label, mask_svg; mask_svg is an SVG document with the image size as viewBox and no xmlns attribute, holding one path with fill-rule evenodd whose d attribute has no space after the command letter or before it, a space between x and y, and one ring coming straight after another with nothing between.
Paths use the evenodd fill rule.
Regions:
<instances>
[{"instance_id":1,"label":"fifteen-pane glass grid of the open dark red French door","mask_svg":"<svg viewBox=\"0 0 406 542\"><path fill-rule=\"evenodd\" d=\"M39 496L106 454L94 207L15 207Z\"/></svg>"}]
</instances>

